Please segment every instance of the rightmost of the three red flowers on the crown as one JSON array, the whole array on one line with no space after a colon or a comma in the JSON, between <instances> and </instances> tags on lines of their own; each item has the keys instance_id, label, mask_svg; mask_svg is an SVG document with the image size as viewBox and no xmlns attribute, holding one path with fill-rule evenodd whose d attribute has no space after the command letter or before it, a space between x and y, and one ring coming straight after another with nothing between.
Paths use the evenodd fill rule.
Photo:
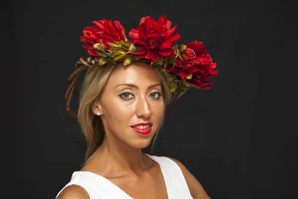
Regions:
<instances>
[{"instance_id":1,"label":"rightmost of the three red flowers on the crown","mask_svg":"<svg viewBox=\"0 0 298 199\"><path fill-rule=\"evenodd\" d=\"M213 83L207 81L209 77L218 74L216 63L212 63L211 56L202 42L194 41L186 44L186 49L181 52L182 60L177 58L177 65L165 66L165 69L178 74L187 83L194 84L200 89L209 89Z\"/></svg>"}]
</instances>

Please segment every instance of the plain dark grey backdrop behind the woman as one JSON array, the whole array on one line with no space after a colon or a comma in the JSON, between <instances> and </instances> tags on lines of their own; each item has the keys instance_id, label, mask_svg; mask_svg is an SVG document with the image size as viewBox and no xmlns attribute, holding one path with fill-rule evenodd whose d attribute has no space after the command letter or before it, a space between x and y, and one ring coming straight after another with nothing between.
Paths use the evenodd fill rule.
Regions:
<instances>
[{"instance_id":1,"label":"plain dark grey backdrop behind the woman","mask_svg":"<svg viewBox=\"0 0 298 199\"><path fill-rule=\"evenodd\" d=\"M119 20L128 35L161 15L178 25L178 44L202 41L219 73L210 90L192 88L167 107L153 154L180 160L212 199L297 198L295 1L6 3L1 199L54 199L83 163L85 140L64 101L75 62L88 57L83 28Z\"/></svg>"}]
</instances>

